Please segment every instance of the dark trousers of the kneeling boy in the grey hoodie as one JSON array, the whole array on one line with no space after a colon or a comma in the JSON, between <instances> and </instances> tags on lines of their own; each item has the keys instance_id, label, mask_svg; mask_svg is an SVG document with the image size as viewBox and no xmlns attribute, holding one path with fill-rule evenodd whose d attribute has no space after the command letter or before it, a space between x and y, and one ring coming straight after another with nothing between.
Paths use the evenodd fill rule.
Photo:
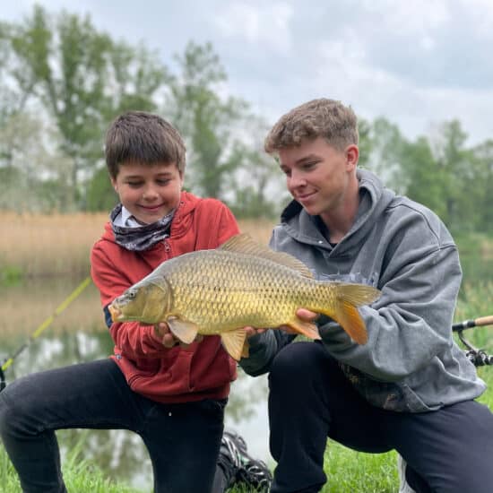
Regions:
<instances>
[{"instance_id":1,"label":"dark trousers of the kneeling boy in the grey hoodie","mask_svg":"<svg viewBox=\"0 0 493 493\"><path fill-rule=\"evenodd\" d=\"M493 490L493 414L474 401L408 413L371 406L321 343L282 349L269 376L272 493L316 492L326 481L327 437L354 450L395 449L419 493Z\"/></svg>"}]
</instances>

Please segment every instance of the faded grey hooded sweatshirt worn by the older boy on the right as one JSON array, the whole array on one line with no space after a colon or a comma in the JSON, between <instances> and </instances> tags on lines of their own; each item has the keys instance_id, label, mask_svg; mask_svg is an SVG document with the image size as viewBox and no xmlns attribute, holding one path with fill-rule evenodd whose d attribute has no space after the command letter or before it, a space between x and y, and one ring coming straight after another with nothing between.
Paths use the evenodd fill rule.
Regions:
<instances>
[{"instance_id":1,"label":"faded grey hooded sweatshirt worn by the older boy on the right","mask_svg":"<svg viewBox=\"0 0 493 493\"><path fill-rule=\"evenodd\" d=\"M476 369L452 337L462 271L454 240L434 212L395 195L358 170L359 210L332 247L316 216L293 201L272 232L271 247L298 257L319 279L363 282L382 291L359 307L368 343L358 345L328 317L319 322L326 350L359 394L389 411L433 411L478 397ZM295 336L267 331L250 338L247 374L269 371L275 354ZM293 362L296 364L296 362Z\"/></svg>"}]
</instances>

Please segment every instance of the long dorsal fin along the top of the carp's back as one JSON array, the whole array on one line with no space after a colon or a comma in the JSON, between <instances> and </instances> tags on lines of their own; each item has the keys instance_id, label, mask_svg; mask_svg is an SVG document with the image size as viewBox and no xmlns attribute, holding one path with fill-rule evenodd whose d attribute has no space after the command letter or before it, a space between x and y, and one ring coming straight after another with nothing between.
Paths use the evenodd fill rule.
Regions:
<instances>
[{"instance_id":1,"label":"long dorsal fin along the top of the carp's back","mask_svg":"<svg viewBox=\"0 0 493 493\"><path fill-rule=\"evenodd\" d=\"M290 254L285 254L284 252L276 252L272 250L272 248L261 245L250 237L248 233L241 233L229 238L229 240L226 243L223 243L218 249L265 258L276 264L289 267L305 277L313 278L313 273L308 269L307 265L303 264L298 258Z\"/></svg>"}]
</instances>

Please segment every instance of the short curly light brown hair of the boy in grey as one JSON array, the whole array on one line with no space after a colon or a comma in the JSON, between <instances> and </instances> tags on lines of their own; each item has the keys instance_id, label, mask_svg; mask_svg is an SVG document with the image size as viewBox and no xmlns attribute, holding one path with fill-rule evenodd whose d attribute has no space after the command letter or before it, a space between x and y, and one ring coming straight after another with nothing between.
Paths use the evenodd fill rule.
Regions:
<instances>
[{"instance_id":1,"label":"short curly light brown hair of the boy in grey","mask_svg":"<svg viewBox=\"0 0 493 493\"><path fill-rule=\"evenodd\" d=\"M340 151L350 144L358 145L358 118L354 111L334 99L308 101L291 109L272 126L264 149L273 153L317 137L324 137Z\"/></svg>"}]
</instances>

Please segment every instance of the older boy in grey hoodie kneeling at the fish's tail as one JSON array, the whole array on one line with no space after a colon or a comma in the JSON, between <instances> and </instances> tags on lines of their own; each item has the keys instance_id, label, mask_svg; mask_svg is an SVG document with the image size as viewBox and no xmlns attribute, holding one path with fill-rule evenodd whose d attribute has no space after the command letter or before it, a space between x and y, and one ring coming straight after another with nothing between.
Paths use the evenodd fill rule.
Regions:
<instances>
[{"instance_id":1,"label":"older boy in grey hoodie kneeling at the fish's tail","mask_svg":"<svg viewBox=\"0 0 493 493\"><path fill-rule=\"evenodd\" d=\"M445 225L357 168L357 118L340 101L290 110L265 151L293 197L271 246L320 279L382 292L359 308L365 345L326 316L316 321L318 342L291 344L288 331L247 329L241 366L253 376L269 372L272 493L322 489L327 437L366 453L396 450L419 493L488 489L493 415L475 400L485 384L452 336L462 272Z\"/></svg>"}]
</instances>

